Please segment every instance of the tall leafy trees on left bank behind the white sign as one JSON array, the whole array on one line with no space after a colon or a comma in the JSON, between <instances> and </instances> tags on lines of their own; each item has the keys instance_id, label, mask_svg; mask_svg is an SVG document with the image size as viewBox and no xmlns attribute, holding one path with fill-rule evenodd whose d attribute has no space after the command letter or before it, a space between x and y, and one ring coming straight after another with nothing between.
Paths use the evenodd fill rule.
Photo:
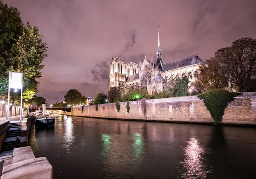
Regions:
<instances>
[{"instance_id":1,"label":"tall leafy trees on left bank behind the white sign","mask_svg":"<svg viewBox=\"0 0 256 179\"><path fill-rule=\"evenodd\" d=\"M47 44L38 28L29 23L23 27L20 12L0 0L0 94L8 89L9 71L23 73L24 91L37 92L45 57Z\"/></svg>"}]
</instances>

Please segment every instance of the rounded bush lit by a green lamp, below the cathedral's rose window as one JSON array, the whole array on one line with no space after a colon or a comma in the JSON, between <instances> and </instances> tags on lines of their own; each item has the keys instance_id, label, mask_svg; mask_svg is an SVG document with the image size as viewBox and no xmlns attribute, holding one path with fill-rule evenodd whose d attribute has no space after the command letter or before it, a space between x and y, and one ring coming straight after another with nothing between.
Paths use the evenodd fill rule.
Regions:
<instances>
[{"instance_id":1,"label":"rounded bush lit by a green lamp, below the cathedral's rose window","mask_svg":"<svg viewBox=\"0 0 256 179\"><path fill-rule=\"evenodd\" d=\"M135 101L137 100L137 96L138 96L138 99L141 99L141 98L150 99L152 95L148 94L148 91L145 89L133 88L133 89L130 89L128 92L126 92L122 96L122 100Z\"/></svg>"}]
</instances>

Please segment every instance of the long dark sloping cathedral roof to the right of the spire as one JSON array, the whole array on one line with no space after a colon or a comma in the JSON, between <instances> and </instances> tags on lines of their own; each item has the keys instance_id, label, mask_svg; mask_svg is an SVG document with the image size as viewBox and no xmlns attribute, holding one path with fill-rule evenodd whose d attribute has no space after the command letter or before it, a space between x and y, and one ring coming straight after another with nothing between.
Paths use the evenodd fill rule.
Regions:
<instances>
[{"instance_id":1,"label":"long dark sloping cathedral roof to the right of the spire","mask_svg":"<svg viewBox=\"0 0 256 179\"><path fill-rule=\"evenodd\" d=\"M172 69L182 68L189 65L202 64L202 63L204 63L204 61L201 58L199 58L198 55L193 55L190 57L182 58L174 62L170 62L168 64L163 64L163 72L166 72Z\"/></svg>"}]
</instances>

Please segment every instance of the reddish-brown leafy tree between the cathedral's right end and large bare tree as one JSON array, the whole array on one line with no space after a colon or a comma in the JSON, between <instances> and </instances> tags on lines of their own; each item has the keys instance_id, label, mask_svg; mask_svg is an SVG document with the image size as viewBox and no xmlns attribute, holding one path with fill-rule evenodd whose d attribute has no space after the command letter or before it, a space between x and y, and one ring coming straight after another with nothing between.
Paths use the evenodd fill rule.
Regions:
<instances>
[{"instance_id":1,"label":"reddish-brown leafy tree between the cathedral's right end and large bare tree","mask_svg":"<svg viewBox=\"0 0 256 179\"><path fill-rule=\"evenodd\" d=\"M227 87L223 68L216 58L211 57L206 61L206 64L201 64L199 72L199 78L195 82L196 90L205 92Z\"/></svg>"}]
</instances>

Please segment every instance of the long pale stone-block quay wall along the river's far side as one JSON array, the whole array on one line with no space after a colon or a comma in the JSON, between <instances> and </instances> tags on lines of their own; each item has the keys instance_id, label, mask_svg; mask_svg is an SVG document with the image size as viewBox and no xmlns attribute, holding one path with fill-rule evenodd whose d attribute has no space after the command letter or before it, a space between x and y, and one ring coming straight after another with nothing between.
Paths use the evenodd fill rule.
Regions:
<instances>
[{"instance_id":1,"label":"long pale stone-block quay wall along the river's far side","mask_svg":"<svg viewBox=\"0 0 256 179\"><path fill-rule=\"evenodd\" d=\"M120 102L119 112L116 110L115 103L108 103L99 104L98 111L95 105L90 105L84 106L83 109L82 107L72 108L71 112L65 115L140 121L214 123L204 101L197 96L144 101L130 101L129 113L126 111L126 102ZM235 100L231 101L225 109L221 123L256 125L256 94L235 97Z\"/></svg>"}]
</instances>

